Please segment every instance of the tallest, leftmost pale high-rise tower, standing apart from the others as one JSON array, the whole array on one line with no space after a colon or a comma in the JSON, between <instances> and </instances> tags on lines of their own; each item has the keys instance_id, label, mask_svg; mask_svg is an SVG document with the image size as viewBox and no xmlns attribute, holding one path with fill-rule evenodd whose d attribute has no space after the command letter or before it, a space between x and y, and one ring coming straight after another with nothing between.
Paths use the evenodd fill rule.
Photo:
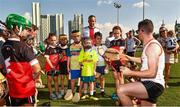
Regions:
<instances>
[{"instance_id":1,"label":"tallest, leftmost pale high-rise tower, standing apart from the others","mask_svg":"<svg viewBox=\"0 0 180 107\"><path fill-rule=\"evenodd\" d=\"M39 2L33 2L32 3L32 23L36 25L38 28L40 28L40 3ZM40 41L40 31L37 31L37 36L35 38L35 43L39 43Z\"/></svg>"}]
</instances>

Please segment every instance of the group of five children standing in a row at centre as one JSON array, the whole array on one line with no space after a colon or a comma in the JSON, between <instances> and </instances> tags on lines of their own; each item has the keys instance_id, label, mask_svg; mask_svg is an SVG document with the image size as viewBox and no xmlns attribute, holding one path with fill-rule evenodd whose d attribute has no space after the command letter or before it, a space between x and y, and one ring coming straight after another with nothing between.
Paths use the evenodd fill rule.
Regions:
<instances>
[{"instance_id":1,"label":"group of five children standing in a row at centre","mask_svg":"<svg viewBox=\"0 0 180 107\"><path fill-rule=\"evenodd\" d=\"M79 30L72 31L71 37L74 42L68 45L67 35L60 35L58 44L57 36L53 33L49 34L48 45L44 56L46 58L45 71L47 74L47 86L50 99L59 99L65 95L64 80L65 77L68 79L70 76L72 92L75 90L76 80L80 78L80 87L84 90L84 97L87 97L87 85L89 85L90 98L98 100L93 96L96 73L100 74L98 78L100 80L102 95L104 95L105 86L104 69L106 64L103 56L96 52L98 47L101 46L104 51L107 49L106 46L101 43L102 34L100 32L95 33L97 44L94 46L90 38L81 38L82 35ZM59 91L59 75L61 78L61 91ZM54 80L55 93L52 91L52 80Z\"/></svg>"}]
</instances>

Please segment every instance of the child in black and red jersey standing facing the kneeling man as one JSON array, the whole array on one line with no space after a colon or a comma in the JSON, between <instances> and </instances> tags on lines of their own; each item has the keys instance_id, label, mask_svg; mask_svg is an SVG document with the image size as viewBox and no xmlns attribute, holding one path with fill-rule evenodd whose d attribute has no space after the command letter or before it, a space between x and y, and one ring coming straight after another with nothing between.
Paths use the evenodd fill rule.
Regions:
<instances>
[{"instance_id":1,"label":"child in black and red jersey standing facing the kneeling man","mask_svg":"<svg viewBox=\"0 0 180 107\"><path fill-rule=\"evenodd\" d=\"M113 34L115 39L110 42L110 48L114 48L119 52L123 52L125 49L125 40L122 38L122 30L119 26L113 27ZM114 68L114 79L116 84L116 89L121 85L124 84L123 74L120 71L120 66L123 66L123 62L120 60L112 61L112 67Z\"/></svg>"}]
</instances>

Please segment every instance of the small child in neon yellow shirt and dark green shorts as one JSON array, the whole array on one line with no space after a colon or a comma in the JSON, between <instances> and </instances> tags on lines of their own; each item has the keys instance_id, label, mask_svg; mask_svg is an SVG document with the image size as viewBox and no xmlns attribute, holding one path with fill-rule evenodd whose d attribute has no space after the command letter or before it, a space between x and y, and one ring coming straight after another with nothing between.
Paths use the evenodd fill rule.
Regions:
<instances>
[{"instance_id":1,"label":"small child in neon yellow shirt and dark green shorts","mask_svg":"<svg viewBox=\"0 0 180 107\"><path fill-rule=\"evenodd\" d=\"M94 76L96 73L96 63L98 56L95 50L92 49L92 41L89 37L83 39L83 50L81 50L78 57L81 70L81 84L86 83L90 85L90 99L98 100L93 96L94 91Z\"/></svg>"}]
</instances>

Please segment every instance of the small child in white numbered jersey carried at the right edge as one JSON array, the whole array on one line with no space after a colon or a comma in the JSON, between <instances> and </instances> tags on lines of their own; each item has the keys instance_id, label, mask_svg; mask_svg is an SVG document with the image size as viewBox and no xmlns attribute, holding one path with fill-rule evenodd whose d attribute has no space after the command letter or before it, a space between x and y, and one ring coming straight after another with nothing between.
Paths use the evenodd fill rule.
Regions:
<instances>
[{"instance_id":1,"label":"small child in white numbered jersey carried at the right edge","mask_svg":"<svg viewBox=\"0 0 180 107\"><path fill-rule=\"evenodd\" d=\"M167 38L166 38L166 49L167 51L171 51L174 53L174 62L178 63L178 53L177 53L177 38L175 35L175 32L173 30L170 30L168 32Z\"/></svg>"}]
</instances>

